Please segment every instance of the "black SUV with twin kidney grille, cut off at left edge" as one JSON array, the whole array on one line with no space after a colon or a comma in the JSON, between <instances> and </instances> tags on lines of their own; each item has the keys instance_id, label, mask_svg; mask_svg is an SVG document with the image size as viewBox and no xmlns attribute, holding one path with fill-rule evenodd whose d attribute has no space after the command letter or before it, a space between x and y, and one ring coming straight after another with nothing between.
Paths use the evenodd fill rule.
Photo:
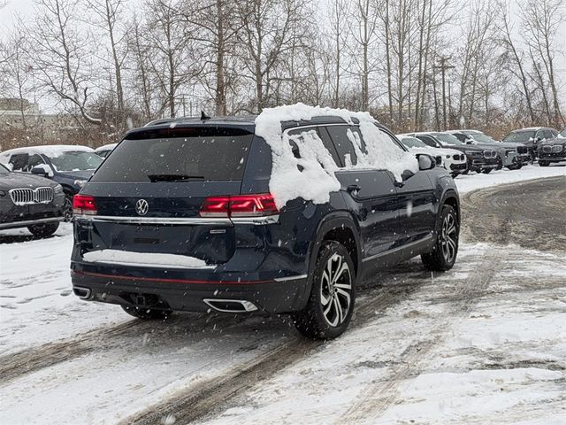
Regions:
<instances>
[{"instance_id":1,"label":"black SUV with twin kidney grille, cut off at left edge","mask_svg":"<svg viewBox=\"0 0 566 425\"><path fill-rule=\"evenodd\" d=\"M60 184L0 164L0 230L27 228L34 236L50 236L63 220L64 204Z\"/></svg>"}]
</instances>

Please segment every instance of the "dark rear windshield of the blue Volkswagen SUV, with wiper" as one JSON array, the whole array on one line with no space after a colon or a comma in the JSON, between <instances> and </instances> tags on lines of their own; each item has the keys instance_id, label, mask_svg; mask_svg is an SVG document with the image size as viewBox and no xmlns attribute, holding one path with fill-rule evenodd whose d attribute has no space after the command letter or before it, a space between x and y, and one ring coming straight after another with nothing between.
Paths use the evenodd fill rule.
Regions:
<instances>
[{"instance_id":1,"label":"dark rear windshield of the blue Volkswagen SUV, with wiper","mask_svg":"<svg viewBox=\"0 0 566 425\"><path fill-rule=\"evenodd\" d=\"M135 134L123 140L91 181L241 180L253 138L252 133L240 128L180 128L175 133L148 131L142 135L151 138Z\"/></svg>"}]
</instances>

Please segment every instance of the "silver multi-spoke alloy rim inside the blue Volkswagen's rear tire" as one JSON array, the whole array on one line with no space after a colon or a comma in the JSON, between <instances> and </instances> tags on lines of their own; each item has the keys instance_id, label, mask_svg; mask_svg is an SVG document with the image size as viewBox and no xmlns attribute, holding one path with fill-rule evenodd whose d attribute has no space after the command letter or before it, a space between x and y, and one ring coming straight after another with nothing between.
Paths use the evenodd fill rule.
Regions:
<instances>
[{"instance_id":1,"label":"silver multi-spoke alloy rim inside the blue Volkswagen's rear tire","mask_svg":"<svg viewBox=\"0 0 566 425\"><path fill-rule=\"evenodd\" d=\"M335 253L326 262L320 285L320 303L325 321L339 326L348 317L352 293L352 274L348 262Z\"/></svg>"}]
</instances>

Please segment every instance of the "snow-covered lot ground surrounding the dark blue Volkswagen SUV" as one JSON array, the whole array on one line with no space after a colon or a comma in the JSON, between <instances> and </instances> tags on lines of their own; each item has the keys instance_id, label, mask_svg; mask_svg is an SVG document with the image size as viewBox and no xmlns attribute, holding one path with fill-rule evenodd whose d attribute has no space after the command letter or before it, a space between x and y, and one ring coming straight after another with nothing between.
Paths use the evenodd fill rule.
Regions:
<instances>
[{"instance_id":1,"label":"snow-covered lot ground surrounding the dark blue Volkswagen SUV","mask_svg":"<svg viewBox=\"0 0 566 425\"><path fill-rule=\"evenodd\" d=\"M467 192L556 175L566 167L455 181ZM562 252L464 241L449 273L415 260L380 276L345 336L307 344L283 318L141 323L81 302L72 240L69 225L0 236L0 423L565 423Z\"/></svg>"}]
</instances>

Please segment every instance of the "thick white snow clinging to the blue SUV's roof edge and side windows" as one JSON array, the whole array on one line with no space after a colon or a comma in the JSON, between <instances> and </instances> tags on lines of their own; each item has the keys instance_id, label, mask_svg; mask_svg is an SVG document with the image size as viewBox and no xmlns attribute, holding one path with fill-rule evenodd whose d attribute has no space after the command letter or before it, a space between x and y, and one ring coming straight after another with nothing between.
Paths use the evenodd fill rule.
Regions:
<instances>
[{"instance_id":1,"label":"thick white snow clinging to the blue SUV's roof edge and side windows","mask_svg":"<svg viewBox=\"0 0 566 425\"><path fill-rule=\"evenodd\" d=\"M405 170L417 172L417 159L409 152L395 148L375 126L376 120L368 112L306 104L268 108L256 118L256 135L263 137L272 148L270 190L279 208L297 197L323 204L329 201L330 192L340 189L340 182L334 175L339 168L317 133L305 131L300 136L288 136L283 135L281 129L282 121L310 121L321 116L337 116L348 124L354 124L353 118L359 120L366 150L363 151L361 141L352 134L357 164L352 166L347 158L347 168L386 169L398 181L402 180L401 174ZM294 157L290 141L296 143L301 158Z\"/></svg>"}]
</instances>

